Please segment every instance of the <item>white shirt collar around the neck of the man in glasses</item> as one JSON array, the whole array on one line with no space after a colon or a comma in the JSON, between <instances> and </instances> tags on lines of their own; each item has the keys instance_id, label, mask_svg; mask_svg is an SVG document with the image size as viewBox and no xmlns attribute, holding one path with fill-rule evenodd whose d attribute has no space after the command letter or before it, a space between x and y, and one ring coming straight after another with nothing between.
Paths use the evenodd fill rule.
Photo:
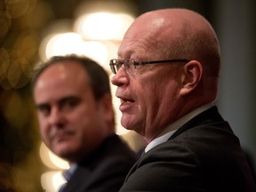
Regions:
<instances>
[{"instance_id":1,"label":"white shirt collar around the neck of the man in glasses","mask_svg":"<svg viewBox=\"0 0 256 192\"><path fill-rule=\"evenodd\" d=\"M200 108L196 108L192 112L188 113L186 116L182 116L178 121L170 124L167 126L163 132L160 132L154 140L151 140L148 143L148 146L145 148L145 153L148 150L155 148L157 145L163 143L164 141L168 140L174 132L176 132L183 124L186 124L190 119L194 118L195 116L199 115L203 111L207 110L208 108L212 108L213 103L208 103Z\"/></svg>"}]
</instances>

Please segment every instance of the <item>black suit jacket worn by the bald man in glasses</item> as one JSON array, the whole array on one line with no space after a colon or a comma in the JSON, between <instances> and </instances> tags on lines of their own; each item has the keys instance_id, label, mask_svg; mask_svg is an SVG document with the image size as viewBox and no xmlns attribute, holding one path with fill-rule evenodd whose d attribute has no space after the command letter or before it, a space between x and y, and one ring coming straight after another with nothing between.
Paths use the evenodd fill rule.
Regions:
<instances>
[{"instance_id":1,"label":"black suit jacket worn by the bald man in glasses","mask_svg":"<svg viewBox=\"0 0 256 192\"><path fill-rule=\"evenodd\" d=\"M133 165L120 191L256 191L238 138L216 107Z\"/></svg>"}]
</instances>

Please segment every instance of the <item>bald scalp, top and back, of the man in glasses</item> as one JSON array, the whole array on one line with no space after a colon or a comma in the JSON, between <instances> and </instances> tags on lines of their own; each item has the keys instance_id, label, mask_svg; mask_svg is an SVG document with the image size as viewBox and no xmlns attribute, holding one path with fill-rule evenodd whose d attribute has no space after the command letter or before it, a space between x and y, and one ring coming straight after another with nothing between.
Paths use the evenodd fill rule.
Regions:
<instances>
[{"instance_id":1,"label":"bald scalp, top and back, of the man in glasses","mask_svg":"<svg viewBox=\"0 0 256 192\"><path fill-rule=\"evenodd\" d=\"M124 39L142 38L148 51L166 60L198 60L207 76L219 76L220 45L211 24L196 12L164 9L146 12L135 20Z\"/></svg>"}]
</instances>

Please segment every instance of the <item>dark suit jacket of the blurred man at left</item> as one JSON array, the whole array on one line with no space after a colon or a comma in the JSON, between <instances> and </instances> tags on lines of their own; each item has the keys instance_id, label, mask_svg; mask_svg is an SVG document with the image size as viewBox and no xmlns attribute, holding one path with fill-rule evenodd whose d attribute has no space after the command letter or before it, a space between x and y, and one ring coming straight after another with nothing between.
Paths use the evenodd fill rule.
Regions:
<instances>
[{"instance_id":1,"label":"dark suit jacket of the blurred man at left","mask_svg":"<svg viewBox=\"0 0 256 192\"><path fill-rule=\"evenodd\" d=\"M138 160L135 153L115 134L78 164L64 192L115 192Z\"/></svg>"}]
</instances>

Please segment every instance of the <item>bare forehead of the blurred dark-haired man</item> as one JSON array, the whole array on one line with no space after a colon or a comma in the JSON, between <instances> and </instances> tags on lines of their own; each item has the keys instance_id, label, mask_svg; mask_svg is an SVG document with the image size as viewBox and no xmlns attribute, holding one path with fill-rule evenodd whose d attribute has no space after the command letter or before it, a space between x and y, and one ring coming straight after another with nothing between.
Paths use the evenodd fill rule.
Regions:
<instances>
[{"instance_id":1,"label":"bare forehead of the blurred dark-haired man","mask_svg":"<svg viewBox=\"0 0 256 192\"><path fill-rule=\"evenodd\" d=\"M38 76L35 97L60 97L91 90L89 76L84 67L74 62L60 62L46 68Z\"/></svg>"}]
</instances>

